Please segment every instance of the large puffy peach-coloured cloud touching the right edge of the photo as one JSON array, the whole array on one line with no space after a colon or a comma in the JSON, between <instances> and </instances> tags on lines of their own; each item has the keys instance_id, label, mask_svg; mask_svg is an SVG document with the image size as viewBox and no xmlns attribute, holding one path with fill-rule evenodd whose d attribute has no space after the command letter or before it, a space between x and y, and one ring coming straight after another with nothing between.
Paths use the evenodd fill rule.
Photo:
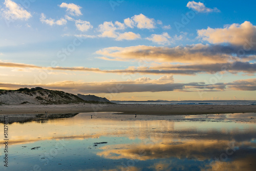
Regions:
<instances>
[{"instance_id":1,"label":"large puffy peach-coloured cloud touching the right edge of the photo","mask_svg":"<svg viewBox=\"0 0 256 171\"><path fill-rule=\"evenodd\" d=\"M198 37L209 41L212 44L229 43L236 46L244 46L256 49L256 26L250 22L240 24L226 25L224 28L207 28L198 30Z\"/></svg>"}]
</instances>

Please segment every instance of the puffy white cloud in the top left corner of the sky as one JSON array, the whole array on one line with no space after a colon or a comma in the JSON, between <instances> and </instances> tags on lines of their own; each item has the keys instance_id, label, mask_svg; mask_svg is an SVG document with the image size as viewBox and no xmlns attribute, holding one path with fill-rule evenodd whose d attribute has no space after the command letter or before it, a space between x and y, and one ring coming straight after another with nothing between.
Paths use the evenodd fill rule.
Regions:
<instances>
[{"instance_id":1,"label":"puffy white cloud in the top left corner of the sky","mask_svg":"<svg viewBox=\"0 0 256 171\"><path fill-rule=\"evenodd\" d=\"M6 6L6 9L3 11L3 14L6 19L24 19L28 20L32 15L16 3L5 0L4 5Z\"/></svg>"}]
</instances>

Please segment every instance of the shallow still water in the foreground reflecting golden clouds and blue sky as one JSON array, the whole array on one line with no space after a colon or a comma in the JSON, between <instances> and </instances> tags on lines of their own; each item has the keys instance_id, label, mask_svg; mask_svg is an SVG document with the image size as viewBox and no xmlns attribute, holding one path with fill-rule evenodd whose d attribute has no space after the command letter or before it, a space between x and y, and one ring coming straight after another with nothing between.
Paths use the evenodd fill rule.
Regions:
<instances>
[{"instance_id":1,"label":"shallow still water in the foreground reflecting golden clouds and blue sky","mask_svg":"<svg viewBox=\"0 0 256 171\"><path fill-rule=\"evenodd\" d=\"M91 115L93 117L91 117ZM4 131L0 117L1 133ZM256 114L9 115L0 170L254 170ZM3 135L3 134L2 134Z\"/></svg>"}]
</instances>

